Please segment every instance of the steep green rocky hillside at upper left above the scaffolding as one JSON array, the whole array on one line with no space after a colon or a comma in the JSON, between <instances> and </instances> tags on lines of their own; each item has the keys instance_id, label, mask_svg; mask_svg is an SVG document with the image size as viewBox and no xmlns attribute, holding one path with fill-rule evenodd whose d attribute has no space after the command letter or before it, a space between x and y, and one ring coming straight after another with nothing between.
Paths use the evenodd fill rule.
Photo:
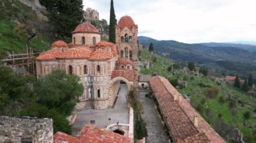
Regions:
<instances>
[{"instance_id":1,"label":"steep green rocky hillside at upper left above the scaffolding","mask_svg":"<svg viewBox=\"0 0 256 143\"><path fill-rule=\"evenodd\" d=\"M45 50L51 44L51 26L42 21L31 7L18 0L3 1L0 5L0 58L6 52L26 52L28 38L34 51Z\"/></svg>"}]
</instances>

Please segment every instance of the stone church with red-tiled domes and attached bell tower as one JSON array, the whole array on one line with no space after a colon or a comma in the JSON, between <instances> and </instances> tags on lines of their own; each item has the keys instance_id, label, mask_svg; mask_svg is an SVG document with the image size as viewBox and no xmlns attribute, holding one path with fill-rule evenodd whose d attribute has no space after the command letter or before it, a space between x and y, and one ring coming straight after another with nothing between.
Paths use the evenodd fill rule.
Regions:
<instances>
[{"instance_id":1,"label":"stone church with red-tiled domes and attached bell tower","mask_svg":"<svg viewBox=\"0 0 256 143\"><path fill-rule=\"evenodd\" d=\"M51 50L36 58L36 73L43 78L52 70L77 75L84 93L76 109L112 107L121 81L128 90L137 89L138 27L127 15L116 26L116 44L100 40L100 32L90 23L81 23L72 34L72 42L56 41Z\"/></svg>"}]
</instances>

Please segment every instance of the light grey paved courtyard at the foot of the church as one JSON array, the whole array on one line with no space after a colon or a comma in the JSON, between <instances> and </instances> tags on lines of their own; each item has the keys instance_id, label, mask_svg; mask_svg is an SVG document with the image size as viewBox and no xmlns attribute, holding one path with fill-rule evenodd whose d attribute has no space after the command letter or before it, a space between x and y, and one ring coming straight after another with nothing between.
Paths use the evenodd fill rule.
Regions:
<instances>
[{"instance_id":1,"label":"light grey paved courtyard at the foot of the church","mask_svg":"<svg viewBox=\"0 0 256 143\"><path fill-rule=\"evenodd\" d=\"M127 85L121 84L121 90L119 91L119 97L114 109L87 109L79 111L73 124L73 134L77 134L86 124L90 124L91 120L95 121L96 126L102 128L117 122L119 124L129 124L129 108L127 107L125 93L127 93Z\"/></svg>"}]
</instances>

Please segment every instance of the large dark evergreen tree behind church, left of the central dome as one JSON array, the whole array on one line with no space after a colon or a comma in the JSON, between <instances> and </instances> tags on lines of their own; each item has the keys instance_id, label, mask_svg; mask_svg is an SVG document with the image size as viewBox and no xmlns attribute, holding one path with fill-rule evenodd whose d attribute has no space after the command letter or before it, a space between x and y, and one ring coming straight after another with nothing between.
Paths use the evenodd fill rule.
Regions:
<instances>
[{"instance_id":1,"label":"large dark evergreen tree behind church, left of the central dome","mask_svg":"<svg viewBox=\"0 0 256 143\"><path fill-rule=\"evenodd\" d=\"M46 16L55 27L57 37L66 38L83 20L82 0L40 0L46 7Z\"/></svg>"}]
</instances>

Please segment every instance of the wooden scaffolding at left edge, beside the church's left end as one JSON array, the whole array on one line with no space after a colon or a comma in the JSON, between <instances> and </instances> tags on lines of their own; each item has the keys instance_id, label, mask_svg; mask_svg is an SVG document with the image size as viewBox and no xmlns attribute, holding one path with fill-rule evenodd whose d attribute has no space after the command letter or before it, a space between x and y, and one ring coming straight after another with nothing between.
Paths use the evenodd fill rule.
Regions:
<instances>
[{"instance_id":1,"label":"wooden scaffolding at left edge, beside the church's left end","mask_svg":"<svg viewBox=\"0 0 256 143\"><path fill-rule=\"evenodd\" d=\"M25 54L15 54L12 52L6 59L1 60L1 66L7 66L10 68L22 67L23 71L21 75L35 75L36 76L36 61L35 58L39 55L39 52L33 51L33 49L26 46ZM13 70L15 72L15 70ZM15 72L15 75L18 75Z\"/></svg>"}]
</instances>

